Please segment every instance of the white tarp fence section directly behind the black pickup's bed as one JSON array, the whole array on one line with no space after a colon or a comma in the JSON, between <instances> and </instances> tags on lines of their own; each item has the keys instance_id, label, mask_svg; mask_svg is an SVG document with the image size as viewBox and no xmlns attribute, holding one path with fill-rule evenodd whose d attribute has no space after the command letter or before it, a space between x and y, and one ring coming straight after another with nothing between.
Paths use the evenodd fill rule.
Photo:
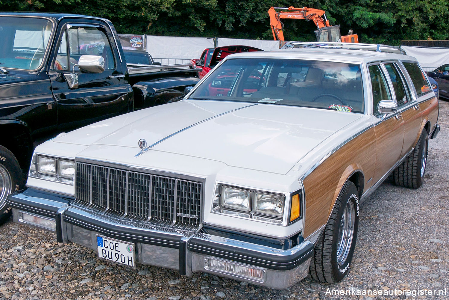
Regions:
<instances>
[{"instance_id":1,"label":"white tarp fence section directly behind the black pickup's bed","mask_svg":"<svg viewBox=\"0 0 449 300\"><path fill-rule=\"evenodd\" d=\"M206 48L214 48L213 38L146 36L146 51L153 58L199 58Z\"/></svg>"}]
</instances>

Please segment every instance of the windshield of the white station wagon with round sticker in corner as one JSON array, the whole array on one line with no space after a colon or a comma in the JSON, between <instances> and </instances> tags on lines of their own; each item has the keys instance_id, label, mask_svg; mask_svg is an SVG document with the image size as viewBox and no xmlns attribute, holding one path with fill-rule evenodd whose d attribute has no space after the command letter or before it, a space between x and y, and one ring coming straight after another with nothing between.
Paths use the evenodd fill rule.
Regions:
<instances>
[{"instance_id":1,"label":"windshield of the white station wagon with round sticker in corner","mask_svg":"<svg viewBox=\"0 0 449 300\"><path fill-rule=\"evenodd\" d=\"M317 60L228 59L189 99L364 111L360 65Z\"/></svg>"}]
</instances>

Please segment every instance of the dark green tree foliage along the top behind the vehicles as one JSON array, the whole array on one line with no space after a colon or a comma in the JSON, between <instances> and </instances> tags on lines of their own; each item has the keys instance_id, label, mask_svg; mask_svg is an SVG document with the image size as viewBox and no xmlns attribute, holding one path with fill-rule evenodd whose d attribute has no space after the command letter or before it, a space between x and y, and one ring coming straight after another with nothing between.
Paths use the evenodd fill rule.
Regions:
<instances>
[{"instance_id":1,"label":"dark green tree foliage along the top behind the vehicles","mask_svg":"<svg viewBox=\"0 0 449 300\"><path fill-rule=\"evenodd\" d=\"M312 7L360 42L449 39L447 0L0 0L0 11L79 13L108 18L119 33L273 38L268 9ZM286 40L315 40L313 22L285 20Z\"/></svg>"}]
</instances>

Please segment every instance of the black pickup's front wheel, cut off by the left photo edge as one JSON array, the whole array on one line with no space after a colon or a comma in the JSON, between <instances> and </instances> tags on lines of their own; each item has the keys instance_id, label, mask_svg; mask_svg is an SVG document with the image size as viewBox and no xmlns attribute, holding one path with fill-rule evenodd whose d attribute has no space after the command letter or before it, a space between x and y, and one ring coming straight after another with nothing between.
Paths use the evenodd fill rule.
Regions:
<instances>
[{"instance_id":1,"label":"black pickup's front wheel, cut off by the left photo edge","mask_svg":"<svg viewBox=\"0 0 449 300\"><path fill-rule=\"evenodd\" d=\"M8 149L0 146L0 225L11 215L11 208L6 205L6 197L22 187L22 169L16 157Z\"/></svg>"}]
</instances>

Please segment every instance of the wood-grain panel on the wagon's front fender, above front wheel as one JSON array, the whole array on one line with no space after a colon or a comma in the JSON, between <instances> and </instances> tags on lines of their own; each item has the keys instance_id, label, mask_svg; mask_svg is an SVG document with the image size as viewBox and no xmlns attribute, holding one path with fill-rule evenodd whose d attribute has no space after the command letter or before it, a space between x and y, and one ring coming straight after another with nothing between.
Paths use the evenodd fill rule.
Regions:
<instances>
[{"instance_id":1,"label":"wood-grain panel on the wagon's front fender, above front wheel","mask_svg":"<svg viewBox=\"0 0 449 300\"><path fill-rule=\"evenodd\" d=\"M331 207L351 170L363 171L366 190L366 181L374 176L375 161L376 136L372 127L339 148L303 180L306 202L304 237L326 224Z\"/></svg>"}]
</instances>

